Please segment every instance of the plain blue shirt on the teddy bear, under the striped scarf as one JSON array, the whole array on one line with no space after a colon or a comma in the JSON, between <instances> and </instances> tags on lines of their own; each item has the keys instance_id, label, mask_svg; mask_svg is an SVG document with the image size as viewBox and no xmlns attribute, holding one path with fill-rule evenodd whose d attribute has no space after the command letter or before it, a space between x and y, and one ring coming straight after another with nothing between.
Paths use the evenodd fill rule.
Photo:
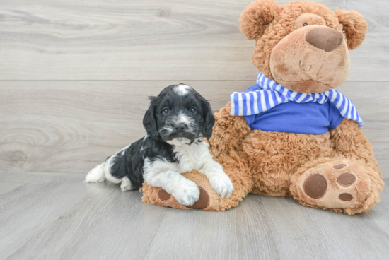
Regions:
<instances>
[{"instance_id":1,"label":"plain blue shirt on the teddy bear, under the striped scarf","mask_svg":"<svg viewBox=\"0 0 389 260\"><path fill-rule=\"evenodd\" d=\"M255 91L259 85L252 85L248 90ZM325 134L334 129L343 120L337 107L332 102L279 104L266 112L245 116L251 129L277 131L297 134Z\"/></svg>"}]
</instances>

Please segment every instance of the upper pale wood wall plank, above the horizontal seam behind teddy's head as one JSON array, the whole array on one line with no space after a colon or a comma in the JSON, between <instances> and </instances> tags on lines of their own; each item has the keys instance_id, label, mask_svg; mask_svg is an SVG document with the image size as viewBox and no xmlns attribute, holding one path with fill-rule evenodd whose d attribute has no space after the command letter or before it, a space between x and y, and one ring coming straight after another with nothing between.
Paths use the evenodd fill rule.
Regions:
<instances>
[{"instance_id":1,"label":"upper pale wood wall plank, above the horizontal seam behind teddy's head","mask_svg":"<svg viewBox=\"0 0 389 260\"><path fill-rule=\"evenodd\" d=\"M254 42L238 30L251 1L3 0L0 79L252 81ZM349 80L388 81L389 2L317 2L368 21Z\"/></svg>"}]
</instances>

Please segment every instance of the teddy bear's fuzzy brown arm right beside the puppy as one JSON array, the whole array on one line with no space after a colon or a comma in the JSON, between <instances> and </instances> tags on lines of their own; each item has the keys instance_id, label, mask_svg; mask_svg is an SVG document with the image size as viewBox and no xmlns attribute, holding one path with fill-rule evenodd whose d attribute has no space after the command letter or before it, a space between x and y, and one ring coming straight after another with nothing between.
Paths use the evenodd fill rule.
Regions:
<instances>
[{"instance_id":1,"label":"teddy bear's fuzzy brown arm right beside the puppy","mask_svg":"<svg viewBox=\"0 0 389 260\"><path fill-rule=\"evenodd\" d=\"M209 138L209 150L211 155L218 158L219 155L229 155L231 151L237 153L242 150L241 143L250 132L245 117L231 116L230 102L214 114L215 124L213 134Z\"/></svg>"}]
</instances>

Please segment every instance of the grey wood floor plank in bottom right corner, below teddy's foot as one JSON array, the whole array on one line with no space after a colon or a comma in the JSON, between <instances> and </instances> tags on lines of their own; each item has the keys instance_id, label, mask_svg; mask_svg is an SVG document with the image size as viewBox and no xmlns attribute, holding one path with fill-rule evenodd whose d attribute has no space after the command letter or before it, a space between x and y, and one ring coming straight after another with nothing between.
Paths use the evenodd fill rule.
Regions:
<instances>
[{"instance_id":1,"label":"grey wood floor plank in bottom right corner, below teddy's foot","mask_svg":"<svg viewBox=\"0 0 389 260\"><path fill-rule=\"evenodd\" d=\"M389 255L388 233L366 213L349 216L303 207L290 197L252 196L271 216L269 226L281 259L381 259Z\"/></svg>"}]
</instances>

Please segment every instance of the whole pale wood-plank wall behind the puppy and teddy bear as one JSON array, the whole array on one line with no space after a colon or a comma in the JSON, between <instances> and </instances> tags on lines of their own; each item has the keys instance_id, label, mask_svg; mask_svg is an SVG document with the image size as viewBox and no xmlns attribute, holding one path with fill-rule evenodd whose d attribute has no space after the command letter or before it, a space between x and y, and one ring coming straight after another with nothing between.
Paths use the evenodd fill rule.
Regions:
<instances>
[{"instance_id":1,"label":"whole pale wood-plank wall behind the puppy and teddy bear","mask_svg":"<svg viewBox=\"0 0 389 260\"><path fill-rule=\"evenodd\" d=\"M170 84L219 110L255 84L255 42L238 22L252 1L1 0L0 171L88 172L144 135L147 97ZM388 169L389 1L315 1L368 22L337 90Z\"/></svg>"}]
</instances>

